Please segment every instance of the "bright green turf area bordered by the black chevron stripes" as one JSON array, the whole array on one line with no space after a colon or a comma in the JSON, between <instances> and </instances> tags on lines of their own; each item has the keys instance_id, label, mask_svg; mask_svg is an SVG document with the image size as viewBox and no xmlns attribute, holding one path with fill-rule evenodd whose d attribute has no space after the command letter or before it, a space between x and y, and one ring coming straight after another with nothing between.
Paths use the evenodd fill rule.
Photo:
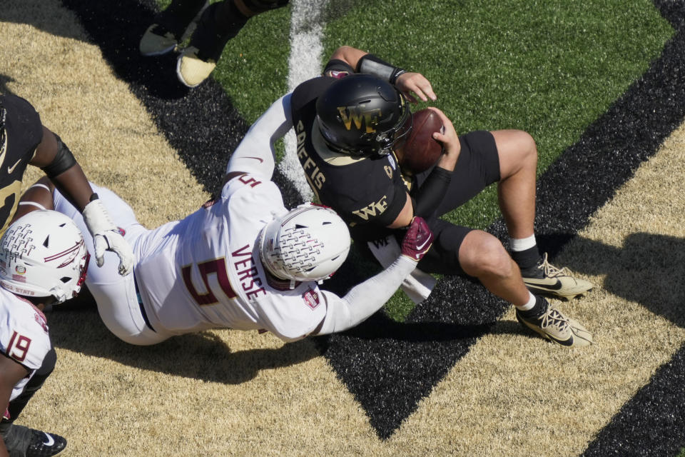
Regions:
<instances>
[{"instance_id":1,"label":"bright green turf area bordered by the black chevron stripes","mask_svg":"<svg viewBox=\"0 0 685 457\"><path fill-rule=\"evenodd\" d=\"M323 61L349 44L422 72L458 132L532 134L539 172L639 79L673 34L649 0L346 0L331 2L325 16ZM248 121L286 89L289 19L290 7L250 19L213 74ZM446 217L486 228L499 217L494 186ZM412 306L397 293L386 309L402 321Z\"/></svg>"}]
</instances>

